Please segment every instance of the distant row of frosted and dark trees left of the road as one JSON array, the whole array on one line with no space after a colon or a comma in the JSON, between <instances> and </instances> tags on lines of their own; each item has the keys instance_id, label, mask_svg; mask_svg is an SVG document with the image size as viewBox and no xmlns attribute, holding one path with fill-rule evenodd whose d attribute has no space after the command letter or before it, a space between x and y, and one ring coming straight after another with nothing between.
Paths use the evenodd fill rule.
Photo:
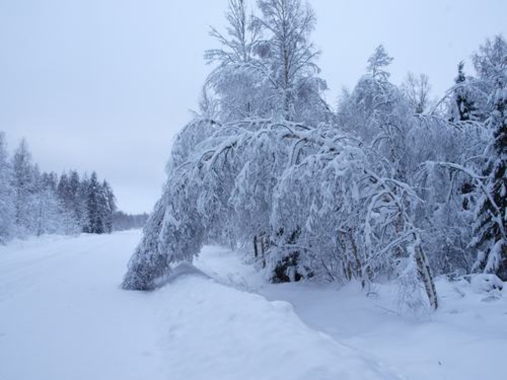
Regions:
<instances>
[{"instance_id":1,"label":"distant row of frosted and dark trees left of the road","mask_svg":"<svg viewBox=\"0 0 507 380\"><path fill-rule=\"evenodd\" d=\"M43 234L108 234L146 220L123 215L111 185L95 171L41 172L25 139L11 157L0 132L0 243Z\"/></svg>"}]
</instances>

